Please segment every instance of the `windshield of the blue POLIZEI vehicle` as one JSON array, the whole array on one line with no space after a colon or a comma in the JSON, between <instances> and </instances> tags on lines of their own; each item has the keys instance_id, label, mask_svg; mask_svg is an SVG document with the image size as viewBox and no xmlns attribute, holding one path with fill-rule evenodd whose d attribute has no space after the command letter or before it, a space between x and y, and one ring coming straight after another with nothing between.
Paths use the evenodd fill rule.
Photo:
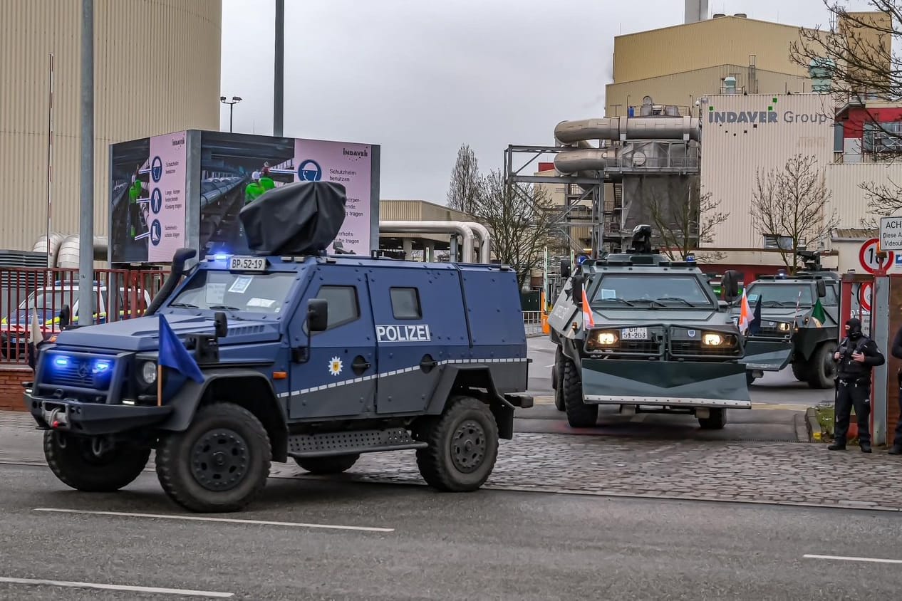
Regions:
<instances>
[{"instance_id":1,"label":"windshield of the blue POLIZEI vehicle","mask_svg":"<svg viewBox=\"0 0 902 601\"><path fill-rule=\"evenodd\" d=\"M294 273L230 273L200 269L169 303L182 309L279 314Z\"/></svg>"}]
</instances>

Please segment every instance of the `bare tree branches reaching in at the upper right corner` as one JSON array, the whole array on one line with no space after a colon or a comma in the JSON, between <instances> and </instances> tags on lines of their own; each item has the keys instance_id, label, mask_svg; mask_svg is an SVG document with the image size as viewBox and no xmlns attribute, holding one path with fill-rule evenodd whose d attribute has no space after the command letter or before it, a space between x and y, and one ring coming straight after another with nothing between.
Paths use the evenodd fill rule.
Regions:
<instances>
[{"instance_id":1,"label":"bare tree branches reaching in at the upper right corner","mask_svg":"<svg viewBox=\"0 0 902 601\"><path fill-rule=\"evenodd\" d=\"M864 109L864 150L870 153L870 159L896 161L902 158L902 130L880 123L866 103L902 99L902 57L893 51L893 45L898 48L902 41L902 2L869 0L871 13L850 11L836 0L823 2L830 13L829 29L801 29L799 41L791 45L790 58L810 69L813 77L830 82L836 105ZM860 187L871 214L888 215L902 209L902 182L865 182ZM864 217L861 223L871 226L875 220Z\"/></svg>"}]
</instances>

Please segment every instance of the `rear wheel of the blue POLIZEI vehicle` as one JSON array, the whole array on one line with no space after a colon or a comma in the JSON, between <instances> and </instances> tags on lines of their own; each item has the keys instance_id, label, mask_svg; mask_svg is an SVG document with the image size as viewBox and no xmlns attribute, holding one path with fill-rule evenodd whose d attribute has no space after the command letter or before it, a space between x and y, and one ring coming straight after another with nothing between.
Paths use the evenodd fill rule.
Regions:
<instances>
[{"instance_id":1,"label":"rear wheel of the blue POLIZEI vehicle","mask_svg":"<svg viewBox=\"0 0 902 601\"><path fill-rule=\"evenodd\" d=\"M470 492L482 487L492 474L498 458L498 424L482 401L472 396L451 398L441 415L421 423L418 437L429 445L417 450L417 467L430 487ZM462 437L472 439L469 450L456 444ZM474 455L481 457L474 459ZM468 456L473 469L461 469Z\"/></svg>"}]
</instances>

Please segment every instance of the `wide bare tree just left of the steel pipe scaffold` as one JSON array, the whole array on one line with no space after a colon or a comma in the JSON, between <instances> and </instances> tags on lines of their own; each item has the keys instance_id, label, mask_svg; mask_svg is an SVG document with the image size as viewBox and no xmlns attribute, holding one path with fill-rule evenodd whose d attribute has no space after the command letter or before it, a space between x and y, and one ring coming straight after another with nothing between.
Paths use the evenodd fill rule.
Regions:
<instances>
[{"instance_id":1,"label":"wide bare tree just left of the steel pipe scaffold","mask_svg":"<svg viewBox=\"0 0 902 601\"><path fill-rule=\"evenodd\" d=\"M517 272L520 287L541 265L543 248L557 242L554 212L541 187L509 184L496 170L482 180L474 217L492 231L492 252Z\"/></svg>"}]
</instances>

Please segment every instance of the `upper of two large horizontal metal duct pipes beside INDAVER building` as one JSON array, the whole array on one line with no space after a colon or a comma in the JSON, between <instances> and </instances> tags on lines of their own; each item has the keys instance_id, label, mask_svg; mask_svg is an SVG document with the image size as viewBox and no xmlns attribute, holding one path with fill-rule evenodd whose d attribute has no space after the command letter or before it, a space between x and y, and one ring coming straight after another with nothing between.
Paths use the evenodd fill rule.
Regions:
<instances>
[{"instance_id":1,"label":"upper of two large horizontal metal duct pipes beside INDAVER building","mask_svg":"<svg viewBox=\"0 0 902 601\"><path fill-rule=\"evenodd\" d=\"M605 117L562 121L555 127L558 144L573 144L585 140L689 140L702 138L700 121L696 117Z\"/></svg>"}]
</instances>

